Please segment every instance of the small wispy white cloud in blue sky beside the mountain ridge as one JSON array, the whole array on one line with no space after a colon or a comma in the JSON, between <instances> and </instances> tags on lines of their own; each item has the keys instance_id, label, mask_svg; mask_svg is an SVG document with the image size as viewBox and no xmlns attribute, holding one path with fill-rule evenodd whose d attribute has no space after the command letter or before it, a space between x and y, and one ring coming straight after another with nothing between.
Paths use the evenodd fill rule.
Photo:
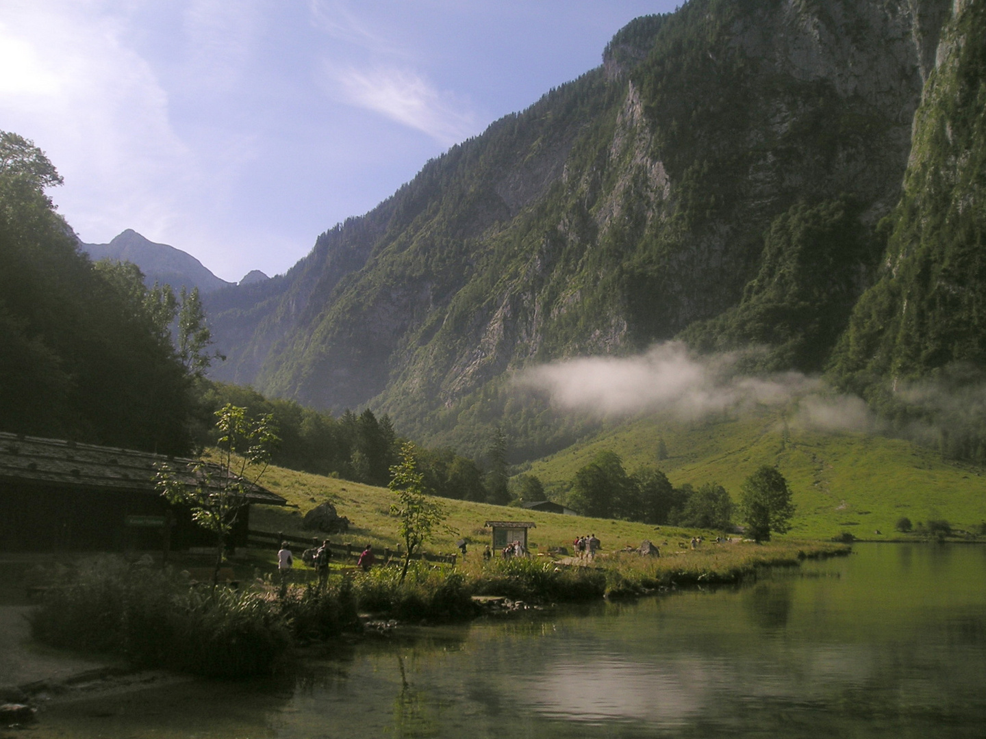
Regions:
<instances>
[{"instance_id":1,"label":"small wispy white cloud in blue sky beside the mountain ridge","mask_svg":"<svg viewBox=\"0 0 986 739\"><path fill-rule=\"evenodd\" d=\"M475 114L451 93L440 92L406 69L323 67L330 95L387 116L451 146L478 132Z\"/></svg>"}]
</instances>

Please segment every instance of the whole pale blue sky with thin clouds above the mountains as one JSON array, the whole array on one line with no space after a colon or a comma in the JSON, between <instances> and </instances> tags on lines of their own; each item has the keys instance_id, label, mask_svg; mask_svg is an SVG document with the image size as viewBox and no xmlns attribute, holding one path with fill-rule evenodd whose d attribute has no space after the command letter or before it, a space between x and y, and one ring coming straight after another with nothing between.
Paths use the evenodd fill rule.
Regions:
<instances>
[{"instance_id":1,"label":"whole pale blue sky with thin clouds above the mountains","mask_svg":"<svg viewBox=\"0 0 986 739\"><path fill-rule=\"evenodd\" d=\"M273 275L677 2L0 0L0 129L83 240Z\"/></svg>"}]
</instances>

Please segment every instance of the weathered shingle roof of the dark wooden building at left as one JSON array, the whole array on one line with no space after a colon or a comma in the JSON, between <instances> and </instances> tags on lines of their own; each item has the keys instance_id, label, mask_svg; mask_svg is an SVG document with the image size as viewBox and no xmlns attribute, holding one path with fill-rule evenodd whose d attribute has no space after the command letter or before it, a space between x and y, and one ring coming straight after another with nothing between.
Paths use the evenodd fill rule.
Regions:
<instances>
[{"instance_id":1,"label":"weathered shingle roof of the dark wooden building at left","mask_svg":"<svg viewBox=\"0 0 986 739\"><path fill-rule=\"evenodd\" d=\"M155 475L162 464L167 464L181 482L194 485L195 461L134 449L0 432L0 482L159 495ZM220 468L217 465L208 466L219 477ZM247 491L249 503L287 503L259 485L251 485Z\"/></svg>"}]
</instances>

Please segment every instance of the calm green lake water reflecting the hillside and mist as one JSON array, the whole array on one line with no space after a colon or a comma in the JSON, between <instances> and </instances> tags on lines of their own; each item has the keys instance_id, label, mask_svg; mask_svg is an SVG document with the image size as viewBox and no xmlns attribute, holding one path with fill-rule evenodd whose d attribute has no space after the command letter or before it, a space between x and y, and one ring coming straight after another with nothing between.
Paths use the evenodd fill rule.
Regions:
<instances>
[{"instance_id":1,"label":"calm green lake water reflecting the hillside and mist","mask_svg":"<svg viewBox=\"0 0 986 739\"><path fill-rule=\"evenodd\" d=\"M279 682L52 706L33 736L981 737L986 547L364 643Z\"/></svg>"}]
</instances>

